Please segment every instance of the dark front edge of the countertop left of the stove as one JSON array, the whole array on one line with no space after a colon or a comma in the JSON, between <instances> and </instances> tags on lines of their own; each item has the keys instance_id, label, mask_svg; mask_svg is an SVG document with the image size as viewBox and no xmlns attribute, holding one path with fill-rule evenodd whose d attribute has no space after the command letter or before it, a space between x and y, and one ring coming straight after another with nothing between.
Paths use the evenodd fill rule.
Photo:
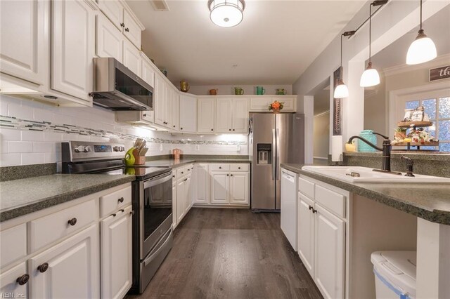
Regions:
<instances>
[{"instance_id":1,"label":"dark front edge of the countertop left of the stove","mask_svg":"<svg viewBox=\"0 0 450 299\"><path fill-rule=\"evenodd\" d=\"M126 184L127 182L132 182L134 180L135 176L129 175L125 178L118 178L117 180L104 182L90 187L85 187L76 191L71 191L67 193L58 194L52 197L47 197L45 199L35 201L31 204L25 204L23 206L15 206L9 210L0 212L0 222L18 218L20 216L31 214L37 211L41 211L44 210L44 208L50 208L51 206L57 206L58 204L63 204L68 201L79 199L89 194L101 192L103 190L123 185Z\"/></svg>"}]
</instances>

